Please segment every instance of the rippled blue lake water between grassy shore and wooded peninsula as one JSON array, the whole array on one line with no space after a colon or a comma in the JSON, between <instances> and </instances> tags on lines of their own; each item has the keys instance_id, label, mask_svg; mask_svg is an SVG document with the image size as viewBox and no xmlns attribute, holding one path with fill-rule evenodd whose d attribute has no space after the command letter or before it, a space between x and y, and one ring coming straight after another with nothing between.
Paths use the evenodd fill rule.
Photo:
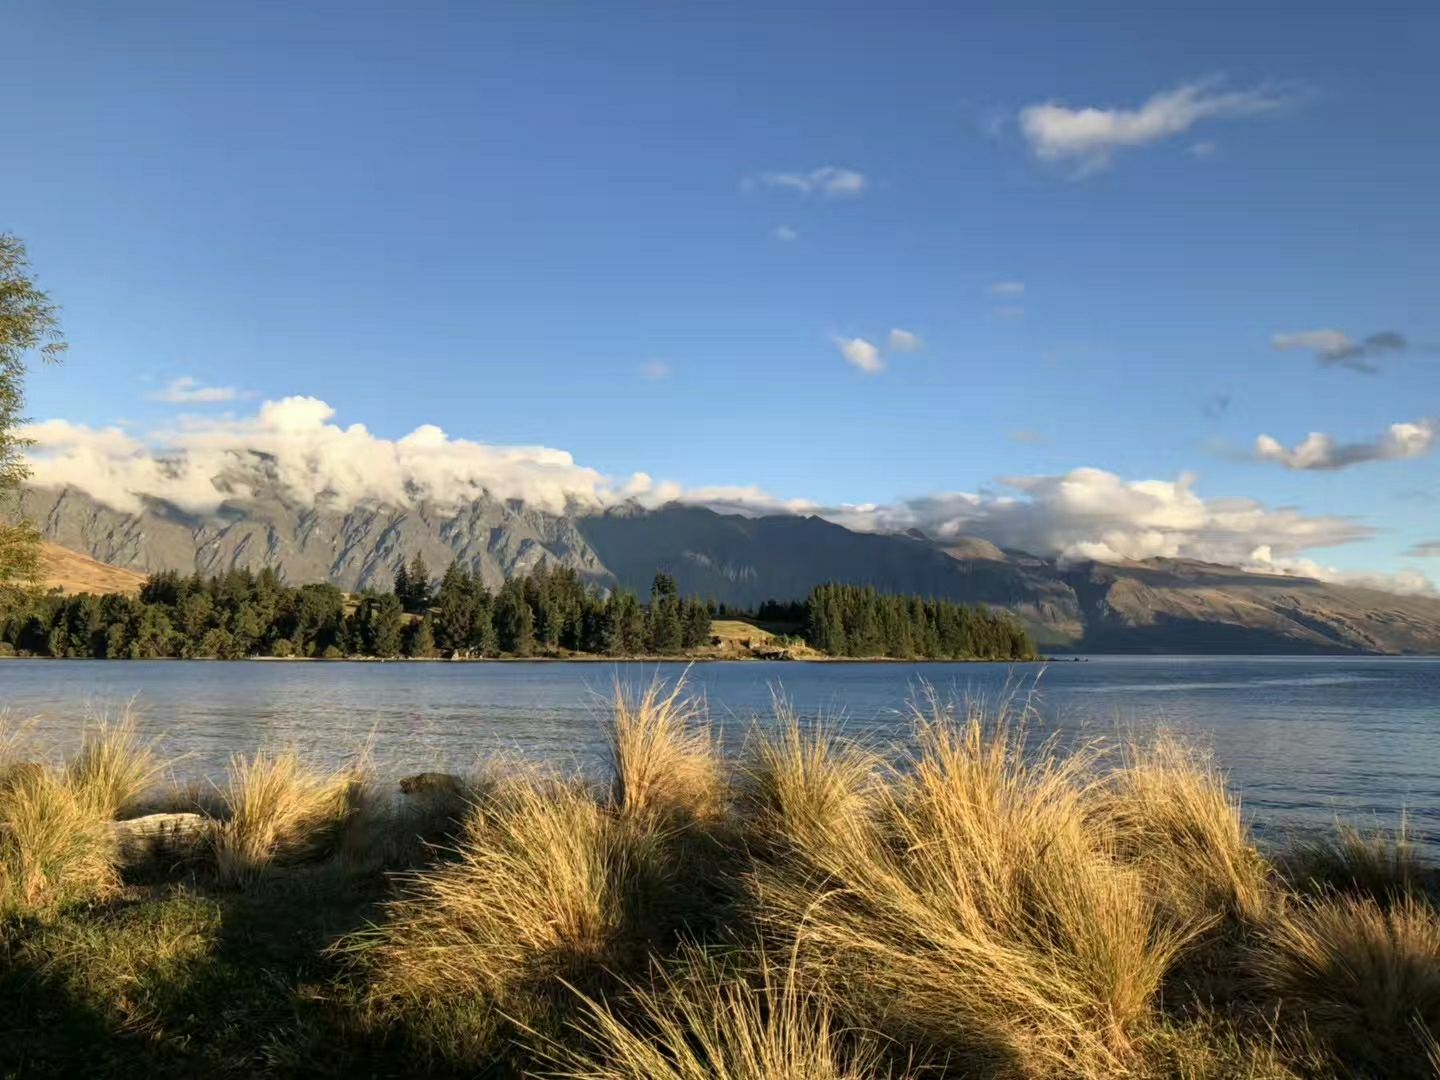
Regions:
<instances>
[{"instance_id":1,"label":"rippled blue lake water between grassy shore and wooded peninsula","mask_svg":"<svg viewBox=\"0 0 1440 1080\"><path fill-rule=\"evenodd\" d=\"M580 768L616 678L639 685L680 664L284 664L0 661L0 707L32 739L75 744L86 714L137 697L144 730L184 755L181 778L219 776L232 752L297 746L323 760L363 743L386 772L465 769L495 753ZM1038 687L1037 687L1038 675ZM900 740L924 684L994 701L1032 694L1037 727L1064 736L1165 726L1210 746L1264 832L1336 816L1388 824L1404 811L1440 840L1440 658L1092 657L1044 668L994 664L696 664L726 744L772 690L804 716Z\"/></svg>"}]
</instances>

